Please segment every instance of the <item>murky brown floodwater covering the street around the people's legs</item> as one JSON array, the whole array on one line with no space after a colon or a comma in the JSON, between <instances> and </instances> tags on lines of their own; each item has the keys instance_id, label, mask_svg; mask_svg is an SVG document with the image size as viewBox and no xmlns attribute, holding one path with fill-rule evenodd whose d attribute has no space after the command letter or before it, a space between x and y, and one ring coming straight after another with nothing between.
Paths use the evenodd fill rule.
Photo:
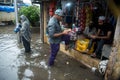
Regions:
<instances>
[{"instance_id":1,"label":"murky brown floodwater covering the street around the people's legs","mask_svg":"<svg viewBox=\"0 0 120 80\"><path fill-rule=\"evenodd\" d=\"M49 68L49 45L40 42L39 33L32 33L32 52L24 53L13 29L14 26L0 26L0 80L103 80L62 52Z\"/></svg>"}]
</instances>

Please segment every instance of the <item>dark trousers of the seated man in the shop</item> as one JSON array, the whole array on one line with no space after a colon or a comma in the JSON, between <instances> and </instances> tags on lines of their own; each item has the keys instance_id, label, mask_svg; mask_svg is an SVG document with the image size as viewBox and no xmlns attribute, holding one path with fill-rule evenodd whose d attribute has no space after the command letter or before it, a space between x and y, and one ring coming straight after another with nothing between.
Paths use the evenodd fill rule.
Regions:
<instances>
[{"instance_id":1,"label":"dark trousers of the seated man in the shop","mask_svg":"<svg viewBox=\"0 0 120 80\"><path fill-rule=\"evenodd\" d=\"M96 55L100 55L105 40L103 40L103 39L99 39L99 40L98 40L98 39L91 39L91 40L90 40L90 43L89 43L89 45L88 45L88 49L89 49L89 50L90 50L90 48L92 47L93 42L96 42L96 43L97 43L97 47L96 47L96 50L95 50L94 53L95 53Z\"/></svg>"}]
</instances>

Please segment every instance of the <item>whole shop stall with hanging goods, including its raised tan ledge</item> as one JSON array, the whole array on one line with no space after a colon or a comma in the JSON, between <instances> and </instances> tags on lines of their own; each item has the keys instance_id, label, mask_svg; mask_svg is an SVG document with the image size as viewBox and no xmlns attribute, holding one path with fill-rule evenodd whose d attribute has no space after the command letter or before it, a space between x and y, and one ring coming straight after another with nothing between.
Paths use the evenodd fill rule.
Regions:
<instances>
[{"instance_id":1,"label":"whole shop stall with hanging goods, including its raised tan ledge","mask_svg":"<svg viewBox=\"0 0 120 80\"><path fill-rule=\"evenodd\" d=\"M61 43L60 50L65 54L75 58L76 60L84 63L88 67L98 67L99 62L104 59L110 59L113 45L105 45L103 47L103 54L99 58L91 58L90 54L93 53L94 49L91 50L90 53L82 54L86 50L88 46L89 40L85 39L81 34L85 31L85 28L91 24L91 21L95 24L98 24L98 17L104 15L106 17L106 22L110 23L114 30L116 29L117 17L110 10L109 2L107 0L52 0L55 2L54 6L52 3L52 9L49 7L45 7L45 10L49 11L47 15L44 12L44 29L46 29L47 21L54 15L54 11L57 8L61 8L64 12L64 23L68 24L68 27L71 28L72 33L70 49L64 50L64 43ZM50 2L52 2L50 1ZM59 2L59 3L58 3ZM59 5L58 5L59 4ZM46 3L44 4L46 5ZM70 6L71 5L71 6ZM112 8L111 8L112 9ZM46 11L47 12L47 11ZM46 31L44 31L46 32ZM45 33L45 42L48 42ZM93 46L94 47L94 46ZM108 51L109 50L109 51ZM106 55L107 54L107 55Z\"/></svg>"}]
</instances>

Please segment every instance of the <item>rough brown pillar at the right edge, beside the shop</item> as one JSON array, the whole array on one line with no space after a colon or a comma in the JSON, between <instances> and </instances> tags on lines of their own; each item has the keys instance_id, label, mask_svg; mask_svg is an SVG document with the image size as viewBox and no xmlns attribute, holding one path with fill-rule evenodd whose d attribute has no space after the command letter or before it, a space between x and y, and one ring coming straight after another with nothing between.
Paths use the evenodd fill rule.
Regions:
<instances>
[{"instance_id":1,"label":"rough brown pillar at the right edge, beside the shop","mask_svg":"<svg viewBox=\"0 0 120 80\"><path fill-rule=\"evenodd\" d=\"M109 57L105 80L120 80L120 16L117 20L114 44Z\"/></svg>"}]
</instances>

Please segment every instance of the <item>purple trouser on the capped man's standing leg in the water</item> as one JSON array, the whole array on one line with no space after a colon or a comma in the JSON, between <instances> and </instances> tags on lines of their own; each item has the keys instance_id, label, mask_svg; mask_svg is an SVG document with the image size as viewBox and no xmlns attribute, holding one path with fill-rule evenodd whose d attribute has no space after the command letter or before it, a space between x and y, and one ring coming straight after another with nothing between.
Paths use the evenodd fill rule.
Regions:
<instances>
[{"instance_id":1,"label":"purple trouser on the capped man's standing leg in the water","mask_svg":"<svg viewBox=\"0 0 120 80\"><path fill-rule=\"evenodd\" d=\"M50 44L50 46L51 46L51 52L50 52L50 58L49 58L49 63L48 63L49 66L54 64L54 60L59 51L60 44Z\"/></svg>"}]
</instances>

